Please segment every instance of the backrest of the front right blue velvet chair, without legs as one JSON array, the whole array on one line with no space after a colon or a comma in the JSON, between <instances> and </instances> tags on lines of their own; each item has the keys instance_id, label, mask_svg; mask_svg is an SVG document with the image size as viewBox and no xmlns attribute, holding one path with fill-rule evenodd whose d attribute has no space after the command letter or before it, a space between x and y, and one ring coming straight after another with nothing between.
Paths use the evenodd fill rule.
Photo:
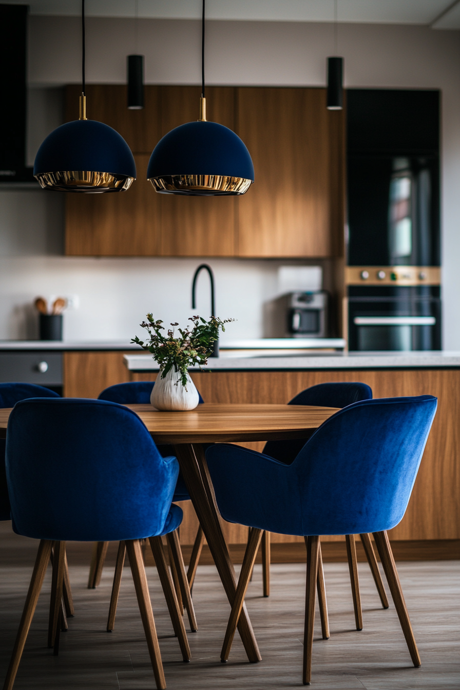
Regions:
<instances>
[{"instance_id":1,"label":"backrest of the front right blue velvet chair, without legs","mask_svg":"<svg viewBox=\"0 0 460 690\"><path fill-rule=\"evenodd\" d=\"M308 534L360 534L397 525L436 408L432 395L377 398L324 422L288 468Z\"/></svg>"}]
</instances>

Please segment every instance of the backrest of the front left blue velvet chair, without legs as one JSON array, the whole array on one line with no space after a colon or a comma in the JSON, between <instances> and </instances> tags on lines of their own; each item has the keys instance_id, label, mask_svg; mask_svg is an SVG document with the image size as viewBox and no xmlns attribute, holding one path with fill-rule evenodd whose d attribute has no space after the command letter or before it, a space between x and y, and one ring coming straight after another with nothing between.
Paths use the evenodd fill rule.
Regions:
<instances>
[{"instance_id":1,"label":"backrest of the front left blue velvet chair, without legs","mask_svg":"<svg viewBox=\"0 0 460 690\"><path fill-rule=\"evenodd\" d=\"M130 409L103 400L32 399L8 422L13 529L48 540L157 535L179 473Z\"/></svg>"}]
</instances>

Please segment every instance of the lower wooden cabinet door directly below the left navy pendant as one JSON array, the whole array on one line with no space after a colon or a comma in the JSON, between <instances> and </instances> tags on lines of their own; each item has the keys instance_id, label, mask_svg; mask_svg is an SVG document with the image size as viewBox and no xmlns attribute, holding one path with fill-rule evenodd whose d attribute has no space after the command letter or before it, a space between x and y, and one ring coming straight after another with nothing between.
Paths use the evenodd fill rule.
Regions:
<instances>
[{"instance_id":1,"label":"lower wooden cabinet door directly below the left navy pendant","mask_svg":"<svg viewBox=\"0 0 460 690\"><path fill-rule=\"evenodd\" d=\"M137 178L127 192L66 195L67 255L159 255L160 195L147 180L149 159L134 155Z\"/></svg>"}]
</instances>

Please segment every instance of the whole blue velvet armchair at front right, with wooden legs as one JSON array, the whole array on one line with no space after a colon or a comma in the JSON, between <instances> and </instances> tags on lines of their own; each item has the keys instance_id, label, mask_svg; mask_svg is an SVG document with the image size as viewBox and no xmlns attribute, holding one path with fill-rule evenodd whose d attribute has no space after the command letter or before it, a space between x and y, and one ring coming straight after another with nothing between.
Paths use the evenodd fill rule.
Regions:
<instances>
[{"instance_id":1,"label":"whole blue velvet armchair at front right, with wooden legs","mask_svg":"<svg viewBox=\"0 0 460 690\"><path fill-rule=\"evenodd\" d=\"M420 665L387 530L406 512L436 408L432 395L356 402L321 424L290 465L240 446L208 448L222 517L252 528L221 660L230 653L261 532L300 535L307 546L303 683L310 684L319 535L372 532L412 662Z\"/></svg>"}]
</instances>

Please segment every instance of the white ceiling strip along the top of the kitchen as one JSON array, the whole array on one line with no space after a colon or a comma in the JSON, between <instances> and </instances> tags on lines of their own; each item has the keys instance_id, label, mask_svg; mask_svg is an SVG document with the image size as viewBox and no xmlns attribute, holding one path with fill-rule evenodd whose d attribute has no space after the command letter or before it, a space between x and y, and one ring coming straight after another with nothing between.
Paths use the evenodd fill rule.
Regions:
<instances>
[{"instance_id":1,"label":"white ceiling strip along the top of the kitchen","mask_svg":"<svg viewBox=\"0 0 460 690\"><path fill-rule=\"evenodd\" d=\"M81 0L9 0L30 14L78 16ZM86 0L88 17L198 19L201 0ZM421 24L460 29L460 0L337 0L339 22ZM333 21L334 0L208 0L208 19Z\"/></svg>"}]
</instances>

